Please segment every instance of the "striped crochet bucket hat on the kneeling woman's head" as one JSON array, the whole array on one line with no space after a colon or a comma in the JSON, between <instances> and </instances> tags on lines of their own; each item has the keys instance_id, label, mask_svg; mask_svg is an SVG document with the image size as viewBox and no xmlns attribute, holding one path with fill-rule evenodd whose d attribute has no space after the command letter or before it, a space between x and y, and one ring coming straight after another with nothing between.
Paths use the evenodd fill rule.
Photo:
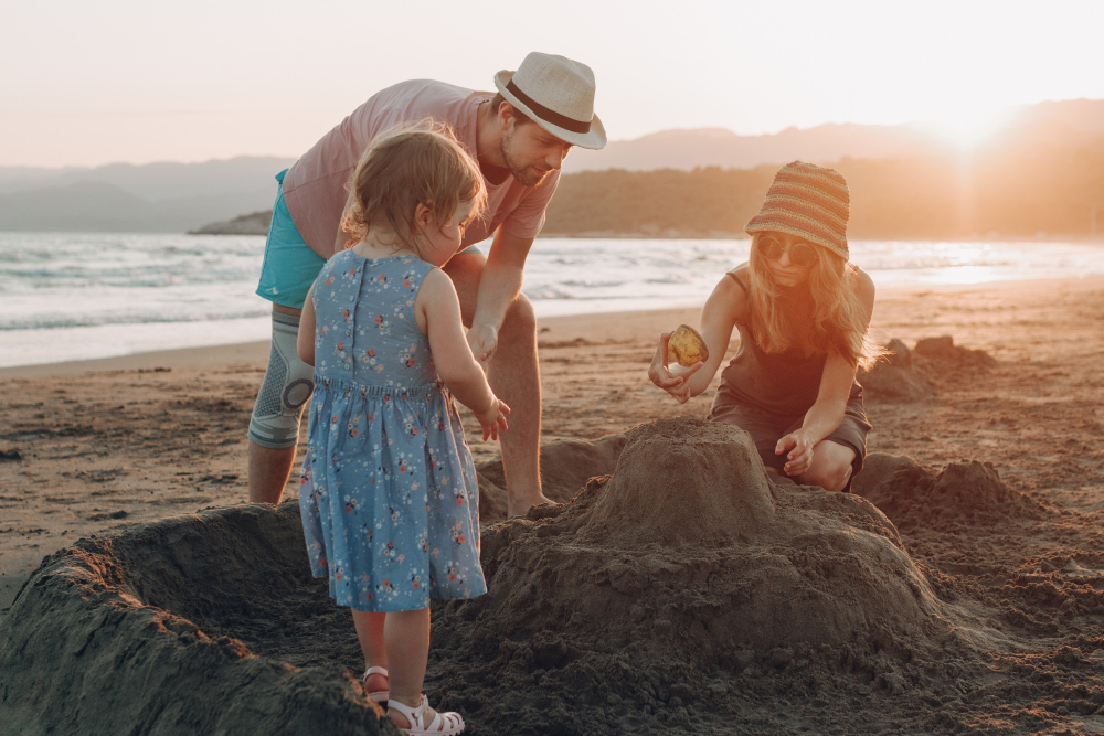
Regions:
<instances>
[{"instance_id":1,"label":"striped crochet bucket hat on the kneeling woman's head","mask_svg":"<svg viewBox=\"0 0 1104 736\"><path fill-rule=\"evenodd\" d=\"M744 226L744 232L788 233L847 260L850 211L851 195L838 171L794 161L778 169L763 206Z\"/></svg>"}]
</instances>

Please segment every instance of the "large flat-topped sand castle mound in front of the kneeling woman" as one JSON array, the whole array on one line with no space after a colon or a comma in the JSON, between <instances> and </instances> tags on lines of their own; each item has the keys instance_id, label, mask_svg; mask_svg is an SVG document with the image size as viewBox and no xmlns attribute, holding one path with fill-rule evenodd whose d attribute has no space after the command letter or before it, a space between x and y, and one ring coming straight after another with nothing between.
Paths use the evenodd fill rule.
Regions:
<instances>
[{"instance_id":1,"label":"large flat-topped sand castle mound in front of the kneeling woman","mask_svg":"<svg viewBox=\"0 0 1104 736\"><path fill-rule=\"evenodd\" d=\"M482 545L496 593L459 604L463 618L507 636L682 640L715 666L747 648L917 633L937 605L874 506L774 483L745 431L689 417L629 433L611 480Z\"/></svg>"}]
</instances>

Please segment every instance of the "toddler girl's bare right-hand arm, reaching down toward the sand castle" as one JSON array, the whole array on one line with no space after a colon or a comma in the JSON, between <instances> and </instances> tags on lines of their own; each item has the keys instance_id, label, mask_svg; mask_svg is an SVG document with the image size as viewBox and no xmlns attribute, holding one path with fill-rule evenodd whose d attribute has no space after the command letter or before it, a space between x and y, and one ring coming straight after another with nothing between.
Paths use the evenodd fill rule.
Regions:
<instances>
[{"instance_id":1,"label":"toddler girl's bare right-hand arm, reaching down toward the sand castle","mask_svg":"<svg viewBox=\"0 0 1104 736\"><path fill-rule=\"evenodd\" d=\"M497 437L499 428L506 429L510 408L491 392L486 374L471 354L460 322L460 300L444 271L434 268L426 274L415 309L424 317L437 375L456 401L475 412L484 438Z\"/></svg>"}]
</instances>

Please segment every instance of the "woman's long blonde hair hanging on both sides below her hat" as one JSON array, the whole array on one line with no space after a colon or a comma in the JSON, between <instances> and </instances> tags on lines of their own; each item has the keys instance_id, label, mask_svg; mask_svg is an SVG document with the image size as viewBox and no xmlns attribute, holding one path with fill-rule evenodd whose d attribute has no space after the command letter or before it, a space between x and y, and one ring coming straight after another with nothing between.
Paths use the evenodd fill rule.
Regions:
<instances>
[{"instance_id":1,"label":"woman's long blonde hair hanging on both sides below her hat","mask_svg":"<svg viewBox=\"0 0 1104 736\"><path fill-rule=\"evenodd\" d=\"M771 276L771 267L760 250L760 233L752 237L749 260L749 291L752 301L751 331L760 348L767 353L786 352L794 330L778 303L781 287ZM815 352L839 353L848 363L869 369L885 353L870 338L867 306L859 297L859 270L828 248L814 245L820 255L809 270L809 292L813 296L813 329L810 346Z\"/></svg>"}]
</instances>

